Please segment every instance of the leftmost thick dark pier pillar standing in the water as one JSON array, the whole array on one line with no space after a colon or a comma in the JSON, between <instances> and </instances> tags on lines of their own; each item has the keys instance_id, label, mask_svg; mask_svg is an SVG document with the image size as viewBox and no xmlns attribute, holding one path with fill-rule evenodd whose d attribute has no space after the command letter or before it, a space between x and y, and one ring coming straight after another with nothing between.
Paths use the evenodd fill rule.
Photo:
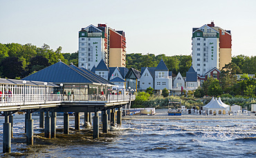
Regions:
<instances>
[{"instance_id":1,"label":"leftmost thick dark pier pillar standing in the water","mask_svg":"<svg viewBox=\"0 0 256 158\"><path fill-rule=\"evenodd\" d=\"M10 152L11 147L11 124L3 123L3 153Z\"/></svg>"}]
</instances>

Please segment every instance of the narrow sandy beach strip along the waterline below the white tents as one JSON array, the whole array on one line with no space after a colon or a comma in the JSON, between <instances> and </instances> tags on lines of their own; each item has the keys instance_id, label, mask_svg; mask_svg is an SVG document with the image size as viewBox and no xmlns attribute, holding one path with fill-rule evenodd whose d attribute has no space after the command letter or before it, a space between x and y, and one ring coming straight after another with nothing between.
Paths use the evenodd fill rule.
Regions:
<instances>
[{"instance_id":1,"label":"narrow sandy beach strip along the waterline below the white tents","mask_svg":"<svg viewBox=\"0 0 256 158\"><path fill-rule=\"evenodd\" d=\"M168 109L156 109L156 115L130 115L122 117L122 119L256 119L255 113L250 115L188 115L168 116Z\"/></svg>"}]
</instances>

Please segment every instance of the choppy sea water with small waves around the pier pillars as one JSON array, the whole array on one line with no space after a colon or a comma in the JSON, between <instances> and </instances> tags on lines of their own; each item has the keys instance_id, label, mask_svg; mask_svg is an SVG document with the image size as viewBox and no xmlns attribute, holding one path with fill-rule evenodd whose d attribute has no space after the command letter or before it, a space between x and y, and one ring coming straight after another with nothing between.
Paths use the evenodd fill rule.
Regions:
<instances>
[{"instance_id":1,"label":"choppy sea water with small waves around the pier pillars","mask_svg":"<svg viewBox=\"0 0 256 158\"><path fill-rule=\"evenodd\" d=\"M33 116L33 119L35 135L42 133L39 116ZM1 149L3 121L4 117L1 117ZM82 124L82 119L80 122ZM74 126L72 117L70 126ZM63 128L63 117L57 116L57 128ZM30 148L26 146L24 115L14 116L13 132L16 139L12 139L12 152L22 153L24 150L21 149ZM77 144L37 146L35 142L37 148L30 148L31 151L21 157L256 157L255 119L138 117L123 120L122 128L111 128L109 133L111 136L104 139L80 137L77 138L79 142L74 139Z\"/></svg>"}]
</instances>

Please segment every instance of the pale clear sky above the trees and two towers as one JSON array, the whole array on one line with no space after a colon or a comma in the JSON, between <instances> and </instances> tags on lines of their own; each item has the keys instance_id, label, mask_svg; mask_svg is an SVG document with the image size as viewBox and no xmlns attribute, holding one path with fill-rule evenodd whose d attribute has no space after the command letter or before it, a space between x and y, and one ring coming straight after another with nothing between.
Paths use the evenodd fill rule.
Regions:
<instances>
[{"instance_id":1,"label":"pale clear sky above the trees and two towers","mask_svg":"<svg viewBox=\"0 0 256 158\"><path fill-rule=\"evenodd\" d=\"M0 43L78 50L78 32L107 23L124 30L127 53L191 55L192 28L231 30L232 56L255 56L255 0L0 0Z\"/></svg>"}]
</instances>

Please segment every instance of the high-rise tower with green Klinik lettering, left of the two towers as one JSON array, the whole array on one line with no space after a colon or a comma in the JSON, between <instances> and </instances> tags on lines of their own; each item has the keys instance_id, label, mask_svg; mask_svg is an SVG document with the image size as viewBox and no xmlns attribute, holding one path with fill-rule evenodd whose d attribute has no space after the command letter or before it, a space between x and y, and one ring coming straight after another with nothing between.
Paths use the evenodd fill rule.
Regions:
<instances>
[{"instance_id":1,"label":"high-rise tower with green Klinik lettering, left of the two towers","mask_svg":"<svg viewBox=\"0 0 256 158\"><path fill-rule=\"evenodd\" d=\"M90 25L79 32L78 66L89 70L103 59L107 66L125 67L125 32Z\"/></svg>"}]
</instances>

